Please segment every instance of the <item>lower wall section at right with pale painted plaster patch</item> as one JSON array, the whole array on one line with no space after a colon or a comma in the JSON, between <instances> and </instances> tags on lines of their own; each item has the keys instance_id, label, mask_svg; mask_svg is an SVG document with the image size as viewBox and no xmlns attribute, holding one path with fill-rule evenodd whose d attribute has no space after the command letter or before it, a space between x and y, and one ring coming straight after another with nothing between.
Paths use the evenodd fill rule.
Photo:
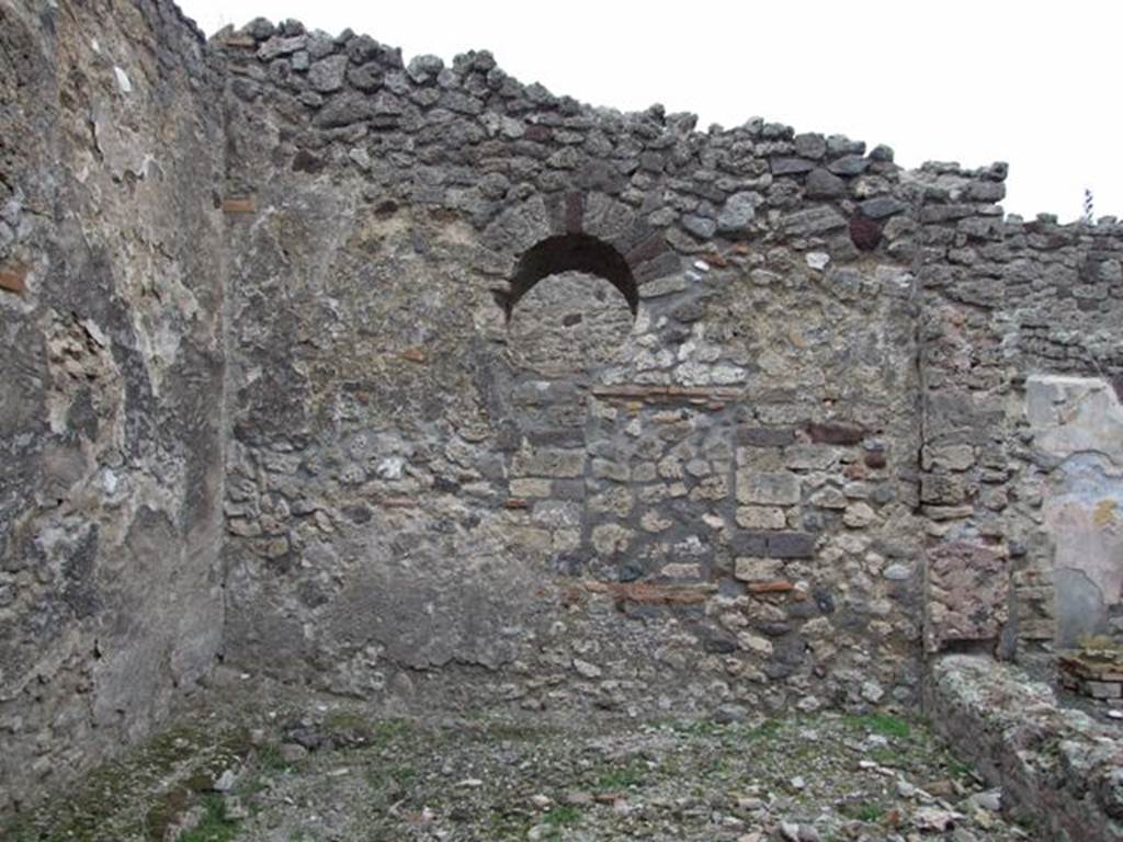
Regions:
<instances>
[{"instance_id":1,"label":"lower wall section at right with pale painted plaster patch","mask_svg":"<svg viewBox=\"0 0 1123 842\"><path fill-rule=\"evenodd\" d=\"M1107 632L1123 597L1123 226L1003 219L1003 175L911 177L924 203L930 644L1001 640L1008 655Z\"/></svg>"}]
</instances>

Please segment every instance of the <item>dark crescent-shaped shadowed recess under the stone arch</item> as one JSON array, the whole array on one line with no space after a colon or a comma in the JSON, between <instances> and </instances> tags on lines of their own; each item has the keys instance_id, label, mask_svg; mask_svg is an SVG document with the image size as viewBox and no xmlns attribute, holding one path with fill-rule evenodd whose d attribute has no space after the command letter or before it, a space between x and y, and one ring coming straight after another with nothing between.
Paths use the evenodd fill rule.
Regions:
<instances>
[{"instance_id":1,"label":"dark crescent-shaped shadowed recess under the stone arch","mask_svg":"<svg viewBox=\"0 0 1123 842\"><path fill-rule=\"evenodd\" d=\"M547 237L522 255L508 291L496 293L496 300L511 318L511 311L531 287L548 275L562 272L584 272L603 277L628 301L632 315L639 306L639 289L631 268L617 249L587 234L563 234Z\"/></svg>"}]
</instances>

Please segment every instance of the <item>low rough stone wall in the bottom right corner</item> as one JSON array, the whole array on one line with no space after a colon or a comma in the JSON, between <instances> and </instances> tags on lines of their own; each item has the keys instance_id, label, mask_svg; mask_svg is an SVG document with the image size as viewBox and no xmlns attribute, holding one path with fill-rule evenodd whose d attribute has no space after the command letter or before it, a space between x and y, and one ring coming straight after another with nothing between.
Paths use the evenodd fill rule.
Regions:
<instances>
[{"instance_id":1,"label":"low rough stone wall in the bottom right corner","mask_svg":"<svg viewBox=\"0 0 1123 842\"><path fill-rule=\"evenodd\" d=\"M1123 840L1123 741L1043 684L989 658L933 661L932 726L1002 787L1003 808L1058 842Z\"/></svg>"}]
</instances>

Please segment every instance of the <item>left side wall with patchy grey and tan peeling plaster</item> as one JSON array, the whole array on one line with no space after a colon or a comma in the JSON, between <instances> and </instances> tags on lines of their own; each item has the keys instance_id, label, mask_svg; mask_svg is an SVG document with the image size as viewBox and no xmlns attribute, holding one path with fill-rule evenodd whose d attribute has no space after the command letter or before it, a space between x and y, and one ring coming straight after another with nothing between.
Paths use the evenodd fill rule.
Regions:
<instances>
[{"instance_id":1,"label":"left side wall with patchy grey and tan peeling plaster","mask_svg":"<svg viewBox=\"0 0 1123 842\"><path fill-rule=\"evenodd\" d=\"M0 812L222 625L222 119L170 2L0 1Z\"/></svg>"}]
</instances>

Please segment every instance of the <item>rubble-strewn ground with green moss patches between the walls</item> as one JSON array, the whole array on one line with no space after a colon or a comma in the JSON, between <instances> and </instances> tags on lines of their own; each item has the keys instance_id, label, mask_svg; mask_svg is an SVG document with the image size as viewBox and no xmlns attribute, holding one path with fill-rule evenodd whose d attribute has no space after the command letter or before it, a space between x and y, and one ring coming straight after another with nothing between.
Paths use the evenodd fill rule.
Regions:
<instances>
[{"instance_id":1,"label":"rubble-strewn ground with green moss patches between the walls","mask_svg":"<svg viewBox=\"0 0 1123 842\"><path fill-rule=\"evenodd\" d=\"M245 713L245 712L244 712ZM86 777L13 842L1029 839L924 723L831 712L637 722L199 715Z\"/></svg>"}]
</instances>

